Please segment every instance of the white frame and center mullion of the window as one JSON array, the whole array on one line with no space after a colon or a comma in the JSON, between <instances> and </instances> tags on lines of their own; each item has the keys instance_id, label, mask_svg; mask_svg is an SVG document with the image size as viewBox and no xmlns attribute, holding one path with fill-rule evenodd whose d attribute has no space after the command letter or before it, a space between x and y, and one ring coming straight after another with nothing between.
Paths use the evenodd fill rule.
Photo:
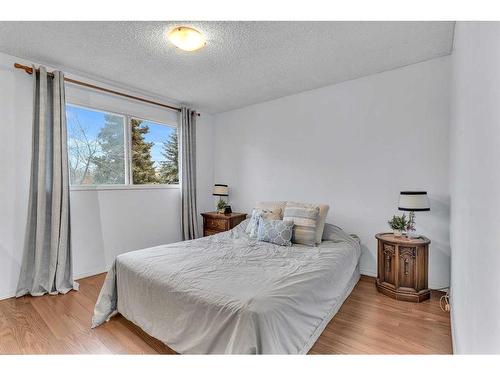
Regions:
<instances>
[{"instance_id":1,"label":"white frame and center mullion of the window","mask_svg":"<svg viewBox=\"0 0 500 375\"><path fill-rule=\"evenodd\" d=\"M105 108L89 107L87 105L76 104L72 101L66 101L65 106L77 107L94 112L108 113L111 115L122 116L125 119L125 129L123 131L123 146L125 147L125 183L124 184L99 184L99 185L71 185L71 191L99 191L99 190L154 190L154 189L179 189L179 184L134 184L132 179L132 126L131 119L153 122L157 125L166 126L175 129L176 125L167 124L162 121L146 119L142 116L136 116L131 113L108 110ZM66 115L66 113L65 113Z\"/></svg>"}]
</instances>

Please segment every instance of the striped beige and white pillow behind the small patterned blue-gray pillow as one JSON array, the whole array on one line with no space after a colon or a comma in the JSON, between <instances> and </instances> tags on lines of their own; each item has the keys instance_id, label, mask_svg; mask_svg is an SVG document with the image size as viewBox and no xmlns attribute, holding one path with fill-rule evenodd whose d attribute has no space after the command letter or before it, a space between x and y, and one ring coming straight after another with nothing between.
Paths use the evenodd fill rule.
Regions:
<instances>
[{"instance_id":1,"label":"striped beige and white pillow behind the small patterned blue-gray pillow","mask_svg":"<svg viewBox=\"0 0 500 375\"><path fill-rule=\"evenodd\" d=\"M319 207L288 202L283 220L293 221L293 243L316 245L316 228L318 226Z\"/></svg>"}]
</instances>

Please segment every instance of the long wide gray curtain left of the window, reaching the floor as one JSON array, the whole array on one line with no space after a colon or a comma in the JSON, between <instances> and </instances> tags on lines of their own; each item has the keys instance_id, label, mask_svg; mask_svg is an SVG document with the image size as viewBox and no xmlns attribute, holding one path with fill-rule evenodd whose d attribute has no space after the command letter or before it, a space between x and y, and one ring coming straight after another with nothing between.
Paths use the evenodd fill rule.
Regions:
<instances>
[{"instance_id":1,"label":"long wide gray curtain left of the window, reaching the floor","mask_svg":"<svg viewBox=\"0 0 500 375\"><path fill-rule=\"evenodd\" d=\"M64 75L33 67L28 222L16 296L78 289L73 281Z\"/></svg>"}]
</instances>

